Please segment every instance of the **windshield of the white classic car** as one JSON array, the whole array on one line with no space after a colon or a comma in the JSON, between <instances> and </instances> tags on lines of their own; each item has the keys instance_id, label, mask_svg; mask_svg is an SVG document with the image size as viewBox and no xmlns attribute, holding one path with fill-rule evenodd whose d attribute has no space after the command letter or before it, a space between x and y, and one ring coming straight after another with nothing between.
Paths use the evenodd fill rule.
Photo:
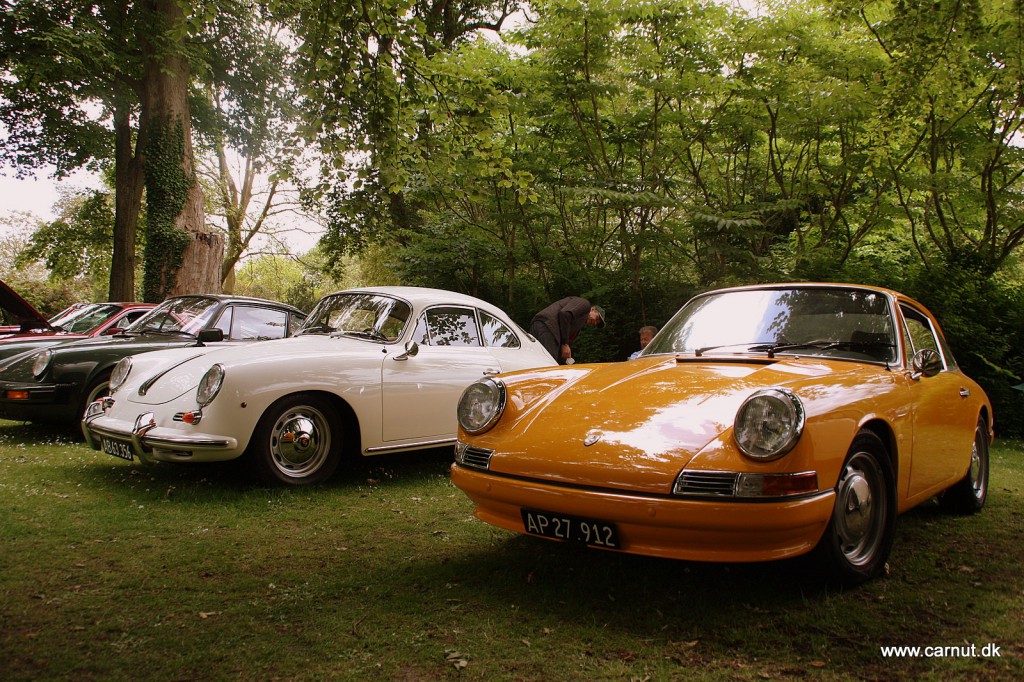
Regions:
<instances>
[{"instance_id":1,"label":"windshield of the white classic car","mask_svg":"<svg viewBox=\"0 0 1024 682\"><path fill-rule=\"evenodd\" d=\"M390 296L343 292L321 300L299 334L346 334L395 341L401 337L411 313L408 303Z\"/></svg>"}]
</instances>

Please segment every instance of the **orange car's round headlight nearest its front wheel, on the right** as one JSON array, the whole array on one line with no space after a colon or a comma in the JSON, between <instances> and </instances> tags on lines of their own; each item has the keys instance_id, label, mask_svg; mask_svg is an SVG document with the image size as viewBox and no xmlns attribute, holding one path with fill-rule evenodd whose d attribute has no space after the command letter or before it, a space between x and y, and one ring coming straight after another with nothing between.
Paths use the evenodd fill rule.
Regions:
<instances>
[{"instance_id":1,"label":"orange car's round headlight nearest its front wheel, on the right","mask_svg":"<svg viewBox=\"0 0 1024 682\"><path fill-rule=\"evenodd\" d=\"M732 429L740 452L762 461L788 453L803 431L803 403L790 391L779 388L758 391L743 400Z\"/></svg>"}]
</instances>

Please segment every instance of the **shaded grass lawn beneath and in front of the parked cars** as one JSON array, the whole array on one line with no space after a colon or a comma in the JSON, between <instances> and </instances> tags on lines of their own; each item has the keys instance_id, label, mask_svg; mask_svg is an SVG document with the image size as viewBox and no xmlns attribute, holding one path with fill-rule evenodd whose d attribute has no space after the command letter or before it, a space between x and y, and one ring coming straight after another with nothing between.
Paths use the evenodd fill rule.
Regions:
<instances>
[{"instance_id":1,"label":"shaded grass lawn beneath and in front of the parked cars","mask_svg":"<svg viewBox=\"0 0 1024 682\"><path fill-rule=\"evenodd\" d=\"M981 514L905 514L848 591L492 528L450 457L266 489L0 422L0 679L1024 679L1020 442Z\"/></svg>"}]
</instances>

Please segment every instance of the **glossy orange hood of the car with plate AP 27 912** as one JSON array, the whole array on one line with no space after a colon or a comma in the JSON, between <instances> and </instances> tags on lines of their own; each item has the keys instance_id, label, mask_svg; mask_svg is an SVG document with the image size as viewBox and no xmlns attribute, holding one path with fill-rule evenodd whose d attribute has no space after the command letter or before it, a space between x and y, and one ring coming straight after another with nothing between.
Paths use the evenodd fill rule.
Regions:
<instances>
[{"instance_id":1,"label":"glossy orange hood of the car with plate AP 27 912","mask_svg":"<svg viewBox=\"0 0 1024 682\"><path fill-rule=\"evenodd\" d=\"M561 381L552 381L556 374ZM493 439L470 440L496 450L494 472L667 494L697 453L731 431L736 410L754 391L788 387L810 418L809 402L871 393L890 383L877 381L883 375L883 367L806 357L663 356L560 368L509 377L511 419L502 420ZM547 392L539 394L538 382Z\"/></svg>"}]
</instances>

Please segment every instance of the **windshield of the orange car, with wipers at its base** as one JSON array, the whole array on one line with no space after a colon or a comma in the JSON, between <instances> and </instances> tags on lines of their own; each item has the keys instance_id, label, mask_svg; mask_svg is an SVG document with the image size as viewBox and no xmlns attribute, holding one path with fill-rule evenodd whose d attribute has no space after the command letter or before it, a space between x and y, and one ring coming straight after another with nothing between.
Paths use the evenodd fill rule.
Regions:
<instances>
[{"instance_id":1,"label":"windshield of the orange car, with wipers at its base","mask_svg":"<svg viewBox=\"0 0 1024 682\"><path fill-rule=\"evenodd\" d=\"M885 295L810 287L698 296L644 350L645 355L654 353L897 359L892 310Z\"/></svg>"}]
</instances>

